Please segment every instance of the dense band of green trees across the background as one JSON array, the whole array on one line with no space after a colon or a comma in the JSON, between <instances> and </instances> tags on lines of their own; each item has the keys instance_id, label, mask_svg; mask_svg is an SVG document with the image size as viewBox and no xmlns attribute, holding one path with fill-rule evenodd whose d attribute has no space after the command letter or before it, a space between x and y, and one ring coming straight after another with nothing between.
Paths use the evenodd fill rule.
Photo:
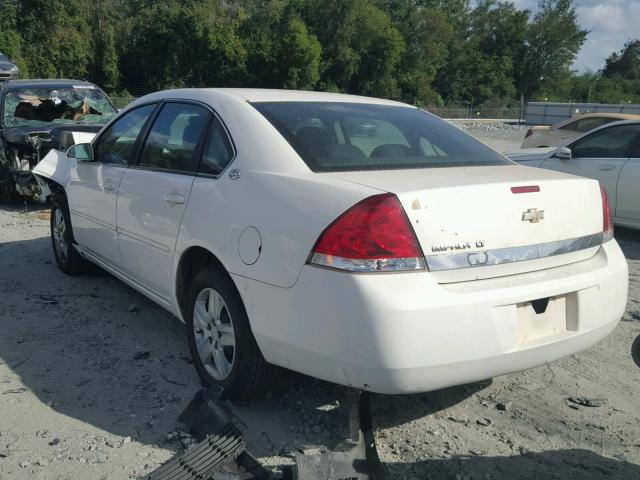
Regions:
<instances>
[{"instance_id":1,"label":"dense band of green trees across the background","mask_svg":"<svg viewBox=\"0 0 640 480\"><path fill-rule=\"evenodd\" d=\"M286 87L423 105L640 101L640 42L570 71L588 32L573 0L0 0L0 51L23 77L115 94Z\"/></svg>"}]
</instances>

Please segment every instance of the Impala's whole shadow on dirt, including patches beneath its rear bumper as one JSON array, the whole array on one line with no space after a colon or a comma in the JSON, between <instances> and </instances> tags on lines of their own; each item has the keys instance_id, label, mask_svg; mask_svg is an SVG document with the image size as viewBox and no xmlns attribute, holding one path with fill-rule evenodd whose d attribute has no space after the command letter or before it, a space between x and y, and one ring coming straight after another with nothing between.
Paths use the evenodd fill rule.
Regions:
<instances>
[{"instance_id":1,"label":"Impala's whole shadow on dirt, including patches beneath its rear bumper","mask_svg":"<svg viewBox=\"0 0 640 480\"><path fill-rule=\"evenodd\" d=\"M167 435L202 387L176 318L98 268L62 274L48 237L0 244L0 272L0 359L22 385L59 414L144 444L180 447ZM374 409L384 412L376 421L428 415L483 385L375 396ZM1 385L0 394L5 390L16 385ZM346 397L345 387L281 370L264 398L235 411L257 455L285 455L342 442Z\"/></svg>"}]
</instances>

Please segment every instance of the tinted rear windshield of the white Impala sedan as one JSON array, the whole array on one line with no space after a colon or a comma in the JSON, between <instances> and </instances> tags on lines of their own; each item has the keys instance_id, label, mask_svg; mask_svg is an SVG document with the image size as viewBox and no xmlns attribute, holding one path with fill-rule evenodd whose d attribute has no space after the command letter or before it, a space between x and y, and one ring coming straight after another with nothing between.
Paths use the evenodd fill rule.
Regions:
<instances>
[{"instance_id":1,"label":"tinted rear windshield of the white Impala sedan","mask_svg":"<svg viewBox=\"0 0 640 480\"><path fill-rule=\"evenodd\" d=\"M253 106L315 172L511 163L417 108L333 102L258 102Z\"/></svg>"}]
</instances>

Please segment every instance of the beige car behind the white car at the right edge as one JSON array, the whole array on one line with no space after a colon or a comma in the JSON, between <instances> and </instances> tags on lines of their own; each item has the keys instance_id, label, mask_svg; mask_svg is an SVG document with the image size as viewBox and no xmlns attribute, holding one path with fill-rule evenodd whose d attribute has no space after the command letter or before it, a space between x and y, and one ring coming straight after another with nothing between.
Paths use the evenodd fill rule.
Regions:
<instances>
[{"instance_id":1,"label":"beige car behind the white car at the right edge","mask_svg":"<svg viewBox=\"0 0 640 480\"><path fill-rule=\"evenodd\" d=\"M555 125L530 127L521 148L544 148L563 145L598 127L620 120L639 120L640 115L627 113L585 113Z\"/></svg>"}]
</instances>

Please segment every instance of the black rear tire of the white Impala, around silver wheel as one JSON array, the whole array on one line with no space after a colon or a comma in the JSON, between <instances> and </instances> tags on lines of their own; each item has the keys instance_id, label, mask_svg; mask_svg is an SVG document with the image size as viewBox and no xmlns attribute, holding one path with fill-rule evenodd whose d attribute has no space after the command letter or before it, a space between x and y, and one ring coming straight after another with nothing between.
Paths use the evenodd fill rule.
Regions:
<instances>
[{"instance_id":1,"label":"black rear tire of the white Impala, around silver wheel","mask_svg":"<svg viewBox=\"0 0 640 480\"><path fill-rule=\"evenodd\" d=\"M207 367L198 350L198 339L201 342L205 341L206 344L206 336L211 335L208 337L208 341L209 344L213 344L212 337L218 335L220 345L222 345L222 334L214 328L213 321L208 326L213 328L215 333L211 333L211 328L204 334L202 333L204 329L194 328L196 302L201 303L203 295L206 296L212 291L216 292L224 301L222 313L220 314L220 324L231 324L232 334L235 337L233 355L230 355L229 350L224 352L227 360L232 356L231 368L227 370L227 376L224 378L215 378L211 374L212 371L216 370L215 355L208 355L206 351L203 353L205 357L212 359ZM275 367L269 365L262 356L251 331L242 298L231 279L224 272L213 268L205 268L195 276L189 287L185 321L191 357L196 371L205 386L220 387L223 390L223 398L239 403L248 402L250 399L265 393ZM200 322L199 325L201 325ZM201 333L197 333L198 331ZM218 339L215 340L215 346L218 346ZM219 348L227 349L229 347Z\"/></svg>"}]
</instances>

